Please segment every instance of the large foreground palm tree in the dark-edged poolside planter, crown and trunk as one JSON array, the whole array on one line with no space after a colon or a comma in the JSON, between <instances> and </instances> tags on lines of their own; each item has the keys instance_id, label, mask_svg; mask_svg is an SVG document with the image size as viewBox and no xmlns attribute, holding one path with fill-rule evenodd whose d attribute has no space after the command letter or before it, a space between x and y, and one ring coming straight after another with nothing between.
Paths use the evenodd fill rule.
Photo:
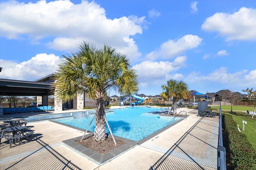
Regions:
<instances>
[{"instance_id":1,"label":"large foreground palm tree in the dark-edged poolside planter, crown and trunk","mask_svg":"<svg viewBox=\"0 0 256 170\"><path fill-rule=\"evenodd\" d=\"M96 100L94 140L99 143L107 137L104 119L107 90L116 88L121 94L130 95L138 89L136 71L130 68L126 55L117 53L109 45L96 49L94 45L82 43L78 52L63 55L55 74L57 99L67 102L86 92Z\"/></svg>"}]
</instances>

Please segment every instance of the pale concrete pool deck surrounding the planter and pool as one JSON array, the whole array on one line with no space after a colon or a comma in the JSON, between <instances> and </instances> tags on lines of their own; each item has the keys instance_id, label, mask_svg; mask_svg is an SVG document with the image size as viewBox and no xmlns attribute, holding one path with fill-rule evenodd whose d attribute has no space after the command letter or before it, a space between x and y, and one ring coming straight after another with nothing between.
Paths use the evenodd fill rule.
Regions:
<instances>
[{"instance_id":1,"label":"pale concrete pool deck surrounding the planter and pool","mask_svg":"<svg viewBox=\"0 0 256 170\"><path fill-rule=\"evenodd\" d=\"M28 123L35 130L31 142L9 148L2 139L0 169L217 169L218 116L199 117L197 110L180 109L188 113L187 119L101 166L62 143L82 136L84 131L52 121ZM0 115L2 120L14 117L18 115Z\"/></svg>"}]
</instances>

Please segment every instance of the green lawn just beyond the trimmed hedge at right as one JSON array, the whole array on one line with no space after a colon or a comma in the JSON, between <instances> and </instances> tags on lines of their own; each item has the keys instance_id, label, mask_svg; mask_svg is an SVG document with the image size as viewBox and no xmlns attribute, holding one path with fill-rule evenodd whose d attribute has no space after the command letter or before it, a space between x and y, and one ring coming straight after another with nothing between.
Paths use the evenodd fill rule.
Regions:
<instances>
[{"instance_id":1,"label":"green lawn just beyond the trimmed hedge at right","mask_svg":"<svg viewBox=\"0 0 256 170\"><path fill-rule=\"evenodd\" d=\"M226 111L223 111L225 113L228 113ZM230 114L230 113L228 113ZM252 115L248 115L243 112L237 112L236 114L230 114L232 115L234 121L239 126L239 129L241 132L246 135L248 141L252 144L252 147L256 149L256 140L255 140L255 134L256 134L256 118L252 119ZM247 121L247 124L244 126L244 131L243 131L243 123L242 121Z\"/></svg>"}]
</instances>

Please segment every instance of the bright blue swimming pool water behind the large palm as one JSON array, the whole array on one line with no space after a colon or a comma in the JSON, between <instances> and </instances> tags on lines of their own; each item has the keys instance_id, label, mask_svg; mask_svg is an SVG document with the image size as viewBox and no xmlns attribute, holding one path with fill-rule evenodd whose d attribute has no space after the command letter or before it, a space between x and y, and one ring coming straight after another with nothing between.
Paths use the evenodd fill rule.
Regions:
<instances>
[{"instance_id":1,"label":"bright blue swimming pool water behind the large palm","mask_svg":"<svg viewBox=\"0 0 256 170\"><path fill-rule=\"evenodd\" d=\"M144 137L182 119L180 117L173 119L173 117L148 113L157 110L159 110L159 108L150 107L111 109L113 112L106 113L106 118L114 135L133 141L140 141ZM89 117L84 118L61 118L55 119L54 121L86 130L93 117L94 114L91 114ZM95 119L88 130L93 132L94 128ZM106 129L106 132L110 134L107 126Z\"/></svg>"}]
</instances>

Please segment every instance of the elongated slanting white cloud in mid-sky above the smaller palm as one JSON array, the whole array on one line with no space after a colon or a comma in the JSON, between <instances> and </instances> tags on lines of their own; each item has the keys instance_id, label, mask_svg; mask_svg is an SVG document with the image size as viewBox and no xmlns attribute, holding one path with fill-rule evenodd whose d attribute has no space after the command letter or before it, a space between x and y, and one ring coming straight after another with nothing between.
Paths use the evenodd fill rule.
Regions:
<instances>
[{"instance_id":1,"label":"elongated slanting white cloud in mid-sky above the smaller palm","mask_svg":"<svg viewBox=\"0 0 256 170\"><path fill-rule=\"evenodd\" d=\"M177 41L168 40L164 42L160 49L152 51L146 57L150 60L158 58L170 59L184 53L186 50L194 49L201 44L202 38L197 35L184 35Z\"/></svg>"}]
</instances>

